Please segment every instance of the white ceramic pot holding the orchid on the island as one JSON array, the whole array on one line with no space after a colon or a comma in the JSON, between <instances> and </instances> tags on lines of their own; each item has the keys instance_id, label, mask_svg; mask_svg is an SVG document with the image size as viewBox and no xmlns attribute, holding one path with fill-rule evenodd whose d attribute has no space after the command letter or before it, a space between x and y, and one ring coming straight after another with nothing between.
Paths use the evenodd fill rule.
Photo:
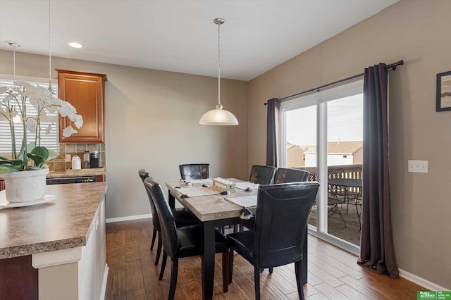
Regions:
<instances>
[{"instance_id":1,"label":"white ceramic pot holding the orchid on the island","mask_svg":"<svg viewBox=\"0 0 451 300\"><path fill-rule=\"evenodd\" d=\"M36 201L44 198L49 169L18 171L1 175L5 180L8 202Z\"/></svg>"}]
</instances>

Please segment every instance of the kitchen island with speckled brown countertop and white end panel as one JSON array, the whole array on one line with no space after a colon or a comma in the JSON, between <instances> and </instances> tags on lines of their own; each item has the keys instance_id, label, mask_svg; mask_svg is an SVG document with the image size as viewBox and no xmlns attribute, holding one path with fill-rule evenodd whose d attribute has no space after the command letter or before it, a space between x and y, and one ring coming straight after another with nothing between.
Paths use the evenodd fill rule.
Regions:
<instances>
[{"instance_id":1,"label":"kitchen island with speckled brown countertop and white end panel","mask_svg":"<svg viewBox=\"0 0 451 300\"><path fill-rule=\"evenodd\" d=\"M47 185L51 201L0 209L0 299L101 299L106 187Z\"/></svg>"}]
</instances>

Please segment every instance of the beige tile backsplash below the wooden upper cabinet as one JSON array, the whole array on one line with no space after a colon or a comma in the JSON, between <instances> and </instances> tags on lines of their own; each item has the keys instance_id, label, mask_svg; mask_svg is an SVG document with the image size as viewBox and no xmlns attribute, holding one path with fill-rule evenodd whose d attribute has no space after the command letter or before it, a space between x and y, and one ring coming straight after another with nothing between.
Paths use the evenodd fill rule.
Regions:
<instances>
[{"instance_id":1,"label":"beige tile backsplash below the wooden upper cabinet","mask_svg":"<svg viewBox=\"0 0 451 300\"><path fill-rule=\"evenodd\" d=\"M105 156L105 144L70 144L70 143L60 143L59 144L59 154L54 161L48 163L49 170L51 171L61 171L72 168L72 162L65 160L66 154L70 154L70 158L77 155L82 161L82 169L85 168L85 160L83 158L85 151L99 151L99 167L106 166L106 156ZM88 167L89 168L89 167Z\"/></svg>"}]
</instances>

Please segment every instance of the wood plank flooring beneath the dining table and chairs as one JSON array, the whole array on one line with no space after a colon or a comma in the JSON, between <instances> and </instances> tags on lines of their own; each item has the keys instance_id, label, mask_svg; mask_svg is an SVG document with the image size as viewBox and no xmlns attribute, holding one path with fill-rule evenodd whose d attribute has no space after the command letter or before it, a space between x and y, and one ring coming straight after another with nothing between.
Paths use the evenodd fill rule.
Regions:
<instances>
[{"instance_id":1,"label":"wood plank flooring beneath the dining table and chairs","mask_svg":"<svg viewBox=\"0 0 451 300\"><path fill-rule=\"evenodd\" d=\"M158 280L156 249L149 251L152 219L106 224L106 299L167 299L171 270ZM216 254L214 299L254 299L253 267L235 254L233 282L222 291L221 256ZM416 299L423 287L400 278L391 280L362 265L357 256L309 236L309 278L306 299ZM182 258L175 299L202 299L201 258ZM261 273L261 299L299 299L294 265Z\"/></svg>"}]
</instances>

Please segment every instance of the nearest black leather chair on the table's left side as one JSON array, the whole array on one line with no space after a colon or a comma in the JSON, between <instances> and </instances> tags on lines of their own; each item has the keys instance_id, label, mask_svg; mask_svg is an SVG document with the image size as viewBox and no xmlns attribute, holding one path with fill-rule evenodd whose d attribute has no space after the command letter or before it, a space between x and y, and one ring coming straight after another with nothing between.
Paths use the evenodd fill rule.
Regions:
<instances>
[{"instance_id":1,"label":"nearest black leather chair on the table's left side","mask_svg":"<svg viewBox=\"0 0 451 300\"><path fill-rule=\"evenodd\" d=\"M154 199L156 211L159 214L161 235L163 237L163 261L159 280L163 278L164 268L168 256L171 258L171 285L169 287L168 299L174 299L175 287L177 285L178 260L179 258L200 256L204 251L203 227L202 225L191 225L186 227L175 227L173 214L168 201L163 194L161 186L147 177L144 185ZM223 291L228 291L229 280L229 251L227 238L216 230L216 253L223 254Z\"/></svg>"}]
</instances>

